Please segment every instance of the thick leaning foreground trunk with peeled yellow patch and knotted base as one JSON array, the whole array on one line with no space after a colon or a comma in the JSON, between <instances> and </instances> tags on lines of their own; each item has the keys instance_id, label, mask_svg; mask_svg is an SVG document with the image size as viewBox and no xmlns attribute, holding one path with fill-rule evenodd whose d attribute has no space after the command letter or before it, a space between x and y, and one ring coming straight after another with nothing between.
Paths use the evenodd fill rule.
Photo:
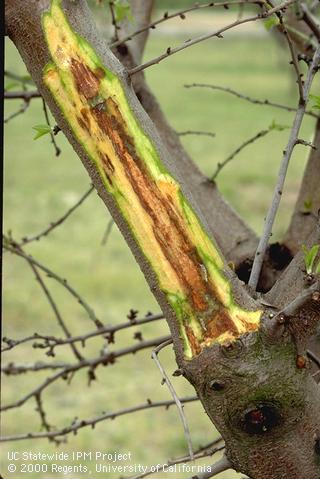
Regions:
<instances>
[{"instance_id":1,"label":"thick leaning foreground trunk with peeled yellow patch and knotted base","mask_svg":"<svg viewBox=\"0 0 320 479\"><path fill-rule=\"evenodd\" d=\"M6 7L9 36L145 274L232 467L319 479L320 394L303 349L318 292L278 316L249 295L84 1Z\"/></svg>"}]
</instances>

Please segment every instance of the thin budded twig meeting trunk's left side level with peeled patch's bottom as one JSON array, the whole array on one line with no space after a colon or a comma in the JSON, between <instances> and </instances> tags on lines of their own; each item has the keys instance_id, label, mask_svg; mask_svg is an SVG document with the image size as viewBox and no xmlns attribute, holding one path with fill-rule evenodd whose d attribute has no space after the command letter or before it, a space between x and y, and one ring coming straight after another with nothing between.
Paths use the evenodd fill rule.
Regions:
<instances>
[{"instance_id":1,"label":"thin budded twig meeting trunk's left side level with peeled patch's bottom","mask_svg":"<svg viewBox=\"0 0 320 479\"><path fill-rule=\"evenodd\" d=\"M9 409L15 409L15 408L18 408L18 407L22 406L30 398L41 394L44 389L46 389L48 386L50 386L51 384L56 382L58 379L67 378L70 374L73 374L76 371L79 371L80 369L90 368L91 371L94 371L95 368L99 365L108 366L110 364L114 364L114 362L117 358L120 358L120 357L125 356L127 354L135 354L138 351L142 351L143 349L152 348L154 346L157 346L157 345L163 343L164 341L168 341L169 339L170 339L170 336L151 339L149 341L144 341L144 342L141 342L139 344L135 344L134 346L130 346L130 347L127 347L127 348L119 349L117 351L112 351L112 352L106 353L106 354L104 354L104 355L102 355L98 358L84 359L82 361L77 362L76 364L70 364L70 365L64 367L61 371L59 370L57 373L53 374L52 376L49 376L39 386L37 386L35 389L33 389L31 392L29 392L25 396L23 396L21 399L18 399L15 402L12 402L10 404L2 406L0 410L1 411L8 411ZM22 366L22 367L24 367L24 366Z\"/></svg>"}]
</instances>

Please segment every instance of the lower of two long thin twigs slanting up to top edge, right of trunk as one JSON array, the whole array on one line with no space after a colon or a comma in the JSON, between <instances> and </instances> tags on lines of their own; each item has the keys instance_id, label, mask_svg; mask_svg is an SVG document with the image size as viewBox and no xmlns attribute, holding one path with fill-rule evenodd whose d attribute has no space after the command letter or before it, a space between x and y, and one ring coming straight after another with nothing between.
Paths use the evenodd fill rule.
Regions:
<instances>
[{"instance_id":1,"label":"lower of two long thin twigs slanting up to top edge, right of trunk","mask_svg":"<svg viewBox=\"0 0 320 479\"><path fill-rule=\"evenodd\" d=\"M274 13L285 9L287 6L291 5L295 1L296 0L286 0L286 1L282 2L280 5L277 5L275 8L271 8L267 12L263 12L261 14L254 15L252 17L247 17L247 18L244 18L244 19L236 20L236 21L230 23L229 25L227 25L225 27L222 27L222 28L220 28L220 29L218 29L218 30L216 30L212 33L208 33L206 35L201 35L200 37L194 38L193 40L188 40L188 41L186 41L185 43L183 43L182 45L180 45L178 47L175 47L175 48L170 48L169 47L169 48L167 48L166 52L163 53L162 55L159 55L158 57L153 58L152 60L149 60L146 63L143 63L141 65L138 65L137 67L132 68L131 70L128 70L128 74L129 75L135 75L136 73L138 73L142 70L145 70L146 68L149 68L152 65L156 65L156 64L160 63L162 60L164 60L165 58L168 58L169 56L174 55L175 53L181 52L182 50L184 50L186 48L189 48L193 45L196 45L200 42L203 42L205 40L209 40L210 38L213 38L213 37L222 38L222 33L226 32L227 30L231 30L232 28L238 27L239 25L244 25L245 23L254 22L256 20L261 20L261 19L264 19L264 18L268 18L271 15L273 15Z\"/></svg>"}]
</instances>

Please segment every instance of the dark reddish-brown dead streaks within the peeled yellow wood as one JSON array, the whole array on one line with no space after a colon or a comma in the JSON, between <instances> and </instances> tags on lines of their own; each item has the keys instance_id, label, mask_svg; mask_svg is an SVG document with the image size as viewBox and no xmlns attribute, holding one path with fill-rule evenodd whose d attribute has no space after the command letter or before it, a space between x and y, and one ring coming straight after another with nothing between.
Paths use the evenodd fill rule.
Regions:
<instances>
[{"instance_id":1,"label":"dark reddish-brown dead streaks within the peeled yellow wood","mask_svg":"<svg viewBox=\"0 0 320 479\"><path fill-rule=\"evenodd\" d=\"M93 72L86 65L73 59L72 73L79 93L87 100L99 95L98 77L101 78L102 74L100 71ZM203 318L207 322L205 337L215 338L226 331L236 335L237 329L229 314L222 305L217 304L214 285L203 277L201 268L204 265L195 246L190 242L185 232L183 219L174 205L170 191L163 193L150 177L146 166L136 153L133 139L126 132L118 105L111 97L102 103L103 108L100 104L90 106L89 101L88 109L83 108L81 110L82 123L78 118L79 124L82 124L82 127L88 130L90 128L90 116L92 116L102 134L110 139L116 155L125 166L125 173L139 197L140 204L152 220L155 239L165 258L179 278L180 284L194 309L205 315L205 318ZM108 181L112 184L114 165L104 153L99 152L99 156ZM213 302L214 304L210 304ZM198 340L189 326L184 325L184 327L188 331L187 335L193 351L198 354L201 349Z\"/></svg>"}]
</instances>

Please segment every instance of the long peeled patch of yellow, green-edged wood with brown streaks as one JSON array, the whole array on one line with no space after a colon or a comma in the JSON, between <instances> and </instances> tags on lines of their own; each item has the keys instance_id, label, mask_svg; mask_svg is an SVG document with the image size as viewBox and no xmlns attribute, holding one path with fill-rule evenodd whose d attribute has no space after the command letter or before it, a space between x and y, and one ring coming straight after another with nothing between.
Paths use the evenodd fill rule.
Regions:
<instances>
[{"instance_id":1,"label":"long peeled patch of yellow, green-edged wood with brown streaks","mask_svg":"<svg viewBox=\"0 0 320 479\"><path fill-rule=\"evenodd\" d=\"M44 82L156 273L186 357L257 329L261 311L234 302L216 245L139 125L120 80L73 32L59 0L43 28L53 59Z\"/></svg>"}]
</instances>

